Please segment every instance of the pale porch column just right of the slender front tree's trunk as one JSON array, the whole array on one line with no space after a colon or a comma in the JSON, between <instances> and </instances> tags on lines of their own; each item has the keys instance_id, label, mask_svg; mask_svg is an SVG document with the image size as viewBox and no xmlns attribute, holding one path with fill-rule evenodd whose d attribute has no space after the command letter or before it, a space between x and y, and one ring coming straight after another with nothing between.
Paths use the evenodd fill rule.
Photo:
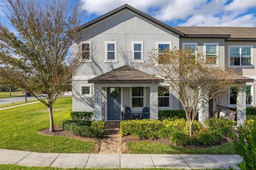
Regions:
<instances>
[{"instance_id":1,"label":"pale porch column just right of the slender front tree's trunk","mask_svg":"<svg viewBox=\"0 0 256 170\"><path fill-rule=\"evenodd\" d=\"M205 94L200 100L198 107L201 107L198 111L198 121L204 123L209 118L209 94Z\"/></svg>"}]
</instances>

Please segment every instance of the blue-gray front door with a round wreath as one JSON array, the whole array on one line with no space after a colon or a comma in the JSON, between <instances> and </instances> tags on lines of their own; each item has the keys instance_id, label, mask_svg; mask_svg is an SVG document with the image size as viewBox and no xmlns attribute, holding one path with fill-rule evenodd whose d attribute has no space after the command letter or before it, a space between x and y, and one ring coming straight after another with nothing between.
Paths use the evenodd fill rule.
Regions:
<instances>
[{"instance_id":1,"label":"blue-gray front door with a round wreath","mask_svg":"<svg viewBox=\"0 0 256 170\"><path fill-rule=\"evenodd\" d=\"M116 91L116 93L113 91ZM115 96L115 94L117 94ZM121 88L108 88L108 120L121 120Z\"/></svg>"}]
</instances>

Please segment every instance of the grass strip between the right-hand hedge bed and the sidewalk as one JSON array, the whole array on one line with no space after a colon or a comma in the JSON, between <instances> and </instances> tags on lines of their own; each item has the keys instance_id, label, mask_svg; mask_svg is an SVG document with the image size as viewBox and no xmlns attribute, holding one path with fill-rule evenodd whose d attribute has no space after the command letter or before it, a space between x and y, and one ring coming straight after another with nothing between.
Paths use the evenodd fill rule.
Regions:
<instances>
[{"instance_id":1,"label":"grass strip between the right-hand hedge bed and the sidewalk","mask_svg":"<svg viewBox=\"0 0 256 170\"><path fill-rule=\"evenodd\" d=\"M184 148L163 143L153 142L127 142L130 154L230 154L234 155L233 143L225 143L218 147L209 148Z\"/></svg>"}]
</instances>

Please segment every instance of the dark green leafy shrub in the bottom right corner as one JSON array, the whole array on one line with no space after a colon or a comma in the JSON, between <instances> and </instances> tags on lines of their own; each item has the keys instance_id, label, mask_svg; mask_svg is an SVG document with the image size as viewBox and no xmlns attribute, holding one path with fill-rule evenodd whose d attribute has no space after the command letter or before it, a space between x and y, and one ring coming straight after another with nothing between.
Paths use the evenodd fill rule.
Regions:
<instances>
[{"instance_id":1,"label":"dark green leafy shrub in the bottom right corner","mask_svg":"<svg viewBox=\"0 0 256 170\"><path fill-rule=\"evenodd\" d=\"M256 121L251 131L238 128L238 135L239 139L234 137L234 148L237 154L243 157L243 161L237 166L240 169L256 169Z\"/></svg>"}]
</instances>

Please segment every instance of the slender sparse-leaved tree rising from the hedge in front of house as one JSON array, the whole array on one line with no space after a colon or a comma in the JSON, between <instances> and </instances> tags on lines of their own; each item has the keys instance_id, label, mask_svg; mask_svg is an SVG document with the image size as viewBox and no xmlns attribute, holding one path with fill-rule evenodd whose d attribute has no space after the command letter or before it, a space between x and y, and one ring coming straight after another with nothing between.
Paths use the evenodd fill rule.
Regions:
<instances>
[{"instance_id":1,"label":"slender sparse-leaved tree rising from the hedge in front of house","mask_svg":"<svg viewBox=\"0 0 256 170\"><path fill-rule=\"evenodd\" d=\"M190 136L196 115L203 107L201 99L206 98L205 103L208 103L210 99L225 94L235 84L233 70L210 67L203 54L192 54L191 50L182 49L165 51L161 55L154 51L149 53L147 64L165 78L173 95L180 100L189 122Z\"/></svg>"}]
</instances>

